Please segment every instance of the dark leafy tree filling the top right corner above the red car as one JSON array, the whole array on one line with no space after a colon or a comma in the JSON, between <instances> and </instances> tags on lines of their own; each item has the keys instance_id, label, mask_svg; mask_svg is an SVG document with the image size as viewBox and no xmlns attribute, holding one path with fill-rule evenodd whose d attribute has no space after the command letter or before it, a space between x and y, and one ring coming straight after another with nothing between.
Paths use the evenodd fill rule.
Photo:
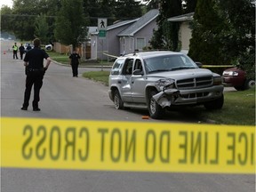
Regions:
<instances>
[{"instance_id":1,"label":"dark leafy tree filling the top right corner above the red car","mask_svg":"<svg viewBox=\"0 0 256 192\"><path fill-rule=\"evenodd\" d=\"M247 75L255 78L255 4L252 0L217 1L219 15L225 20L219 38L221 52Z\"/></svg>"}]
</instances>

